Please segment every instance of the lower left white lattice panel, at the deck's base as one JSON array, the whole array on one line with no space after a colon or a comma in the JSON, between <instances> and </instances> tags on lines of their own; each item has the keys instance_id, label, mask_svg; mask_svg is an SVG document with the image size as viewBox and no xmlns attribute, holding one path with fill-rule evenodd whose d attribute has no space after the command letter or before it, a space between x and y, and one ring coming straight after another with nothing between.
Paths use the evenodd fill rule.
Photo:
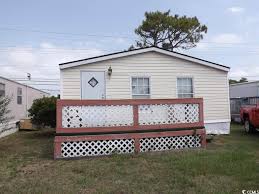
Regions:
<instances>
[{"instance_id":1,"label":"lower left white lattice panel, at the deck's base","mask_svg":"<svg viewBox=\"0 0 259 194\"><path fill-rule=\"evenodd\" d=\"M134 152L134 139L63 142L61 154L64 158L101 156Z\"/></svg>"}]
</instances>

